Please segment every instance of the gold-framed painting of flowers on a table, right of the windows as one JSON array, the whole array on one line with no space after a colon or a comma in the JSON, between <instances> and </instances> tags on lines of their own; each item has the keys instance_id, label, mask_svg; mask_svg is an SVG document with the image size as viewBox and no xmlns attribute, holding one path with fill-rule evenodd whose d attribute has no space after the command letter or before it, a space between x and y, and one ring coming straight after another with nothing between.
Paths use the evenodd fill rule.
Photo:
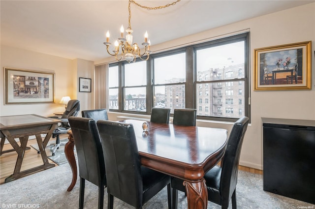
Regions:
<instances>
[{"instance_id":1,"label":"gold-framed painting of flowers on a table, right of the windows","mask_svg":"<svg viewBox=\"0 0 315 209\"><path fill-rule=\"evenodd\" d=\"M310 90L311 41L254 49L254 90Z\"/></svg>"}]
</instances>

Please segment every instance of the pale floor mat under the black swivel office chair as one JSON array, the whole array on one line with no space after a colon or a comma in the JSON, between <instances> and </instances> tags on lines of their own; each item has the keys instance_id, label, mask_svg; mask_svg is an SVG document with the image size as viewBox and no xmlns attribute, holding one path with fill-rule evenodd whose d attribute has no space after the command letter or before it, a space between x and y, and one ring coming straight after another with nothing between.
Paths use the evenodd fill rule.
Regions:
<instances>
[{"instance_id":1,"label":"pale floor mat under the black swivel office chair","mask_svg":"<svg viewBox=\"0 0 315 209\"><path fill-rule=\"evenodd\" d=\"M53 149L54 149L55 142L52 141L51 143L48 143L48 145L45 149L48 159L54 161L57 165L62 165L64 163L67 163L68 161L67 161L65 154L64 154L64 145L67 142L68 142L67 138L60 140L61 145L60 145L59 149L56 150L55 155L53 155ZM39 151L37 144L31 145L31 147L33 149L36 149L37 151ZM75 158L77 158L77 153L76 153L75 147L73 149L73 152L74 152Z\"/></svg>"}]
</instances>

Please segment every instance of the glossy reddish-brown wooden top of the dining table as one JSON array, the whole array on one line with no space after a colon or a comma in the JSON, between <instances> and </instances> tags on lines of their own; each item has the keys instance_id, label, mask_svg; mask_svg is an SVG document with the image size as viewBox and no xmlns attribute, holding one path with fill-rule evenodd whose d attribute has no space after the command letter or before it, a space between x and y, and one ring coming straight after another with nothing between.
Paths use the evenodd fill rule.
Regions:
<instances>
[{"instance_id":1,"label":"glossy reddish-brown wooden top of the dining table","mask_svg":"<svg viewBox=\"0 0 315 209\"><path fill-rule=\"evenodd\" d=\"M147 121L149 128L144 132L144 121L126 119L124 122L133 124L140 155L155 155L187 165L203 164L227 142L227 131L221 128Z\"/></svg>"}]
</instances>

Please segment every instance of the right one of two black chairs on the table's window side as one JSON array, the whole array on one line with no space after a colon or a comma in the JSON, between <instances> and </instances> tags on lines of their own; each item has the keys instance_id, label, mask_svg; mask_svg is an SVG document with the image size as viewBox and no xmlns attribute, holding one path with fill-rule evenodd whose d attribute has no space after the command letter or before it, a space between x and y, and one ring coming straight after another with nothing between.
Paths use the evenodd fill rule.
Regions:
<instances>
[{"instance_id":1,"label":"right one of two black chairs on the table's window side","mask_svg":"<svg viewBox=\"0 0 315 209\"><path fill-rule=\"evenodd\" d=\"M173 124L196 126L196 109L174 109Z\"/></svg>"}]
</instances>

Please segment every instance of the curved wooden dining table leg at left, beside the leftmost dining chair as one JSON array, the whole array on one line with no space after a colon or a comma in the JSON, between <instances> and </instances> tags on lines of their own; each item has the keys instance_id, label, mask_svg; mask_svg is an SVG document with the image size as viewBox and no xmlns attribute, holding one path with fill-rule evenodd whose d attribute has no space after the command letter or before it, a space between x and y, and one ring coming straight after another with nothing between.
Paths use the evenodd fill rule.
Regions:
<instances>
[{"instance_id":1,"label":"curved wooden dining table leg at left, beside the leftmost dining chair","mask_svg":"<svg viewBox=\"0 0 315 209\"><path fill-rule=\"evenodd\" d=\"M69 141L65 144L65 147L64 147L64 153L72 170L72 181L71 181L70 186L67 189L67 191L71 191L77 181L78 170L77 170L77 163L75 161L74 152L73 152L74 140L73 140L72 134L71 135L69 134L68 139Z\"/></svg>"}]
</instances>

